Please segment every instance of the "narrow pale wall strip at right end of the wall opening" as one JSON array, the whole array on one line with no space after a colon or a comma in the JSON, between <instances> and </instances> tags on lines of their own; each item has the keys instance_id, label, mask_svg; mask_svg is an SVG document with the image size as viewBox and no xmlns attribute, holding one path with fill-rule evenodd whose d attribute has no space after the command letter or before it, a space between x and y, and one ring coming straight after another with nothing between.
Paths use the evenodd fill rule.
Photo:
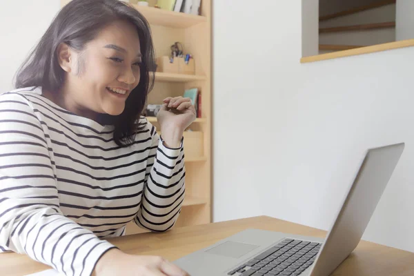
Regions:
<instances>
[{"instance_id":1,"label":"narrow pale wall strip at right end of the wall opening","mask_svg":"<svg viewBox=\"0 0 414 276\"><path fill-rule=\"evenodd\" d=\"M395 22L397 41L414 39L413 11L413 0L397 0L397 21Z\"/></svg>"}]
</instances>

